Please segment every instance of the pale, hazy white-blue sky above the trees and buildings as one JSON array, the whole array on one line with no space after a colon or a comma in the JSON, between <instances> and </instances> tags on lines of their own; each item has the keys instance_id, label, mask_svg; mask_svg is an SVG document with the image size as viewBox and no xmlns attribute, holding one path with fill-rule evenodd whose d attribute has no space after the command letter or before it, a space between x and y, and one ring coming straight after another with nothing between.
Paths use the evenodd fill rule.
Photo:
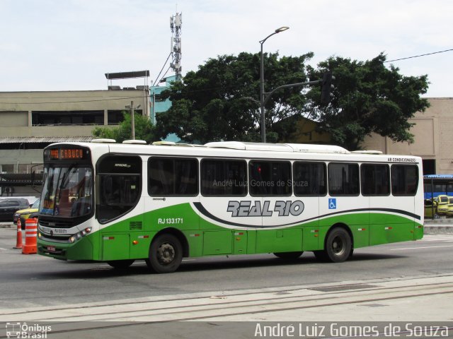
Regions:
<instances>
[{"instance_id":1,"label":"pale, hazy white-blue sky above the trees and buildings","mask_svg":"<svg viewBox=\"0 0 453 339\"><path fill-rule=\"evenodd\" d=\"M281 26L289 30L266 40L264 52L314 52L315 67L331 56L366 61L384 52L395 60L453 49L451 0L0 0L0 92L106 90L105 73L142 70L152 85L176 13L183 76L219 55L259 52ZM387 65L427 74L424 97L453 97L452 61L449 51Z\"/></svg>"}]
</instances>

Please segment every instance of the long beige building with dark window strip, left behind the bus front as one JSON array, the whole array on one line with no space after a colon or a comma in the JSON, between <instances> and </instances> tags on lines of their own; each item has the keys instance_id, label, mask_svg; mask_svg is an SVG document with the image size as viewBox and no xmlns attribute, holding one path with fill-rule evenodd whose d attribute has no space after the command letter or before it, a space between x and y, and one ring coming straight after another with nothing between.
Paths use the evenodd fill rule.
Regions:
<instances>
[{"instance_id":1,"label":"long beige building with dark window strip, left behind the bus front","mask_svg":"<svg viewBox=\"0 0 453 339\"><path fill-rule=\"evenodd\" d=\"M149 89L137 88L0 93L0 196L36 193L39 175L31 185L31 174L42 172L50 143L91 141L96 126L119 124L132 101L149 115Z\"/></svg>"}]
</instances>

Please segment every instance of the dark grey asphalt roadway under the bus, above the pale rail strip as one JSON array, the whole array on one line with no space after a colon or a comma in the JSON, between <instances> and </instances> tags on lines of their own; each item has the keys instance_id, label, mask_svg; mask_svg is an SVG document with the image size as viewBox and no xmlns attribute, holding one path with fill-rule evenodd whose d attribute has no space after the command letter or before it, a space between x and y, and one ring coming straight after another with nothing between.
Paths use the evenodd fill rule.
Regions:
<instances>
[{"instance_id":1,"label":"dark grey asphalt roadway under the bus, above the pale rail strip","mask_svg":"<svg viewBox=\"0 0 453 339\"><path fill-rule=\"evenodd\" d=\"M340 264L319 263L311 253L294 262L272 254L189 258L167 275L149 274L143 261L118 272L105 263L23 255L12 249L15 237L0 229L0 302L8 308L453 274L452 234L357 249Z\"/></svg>"}]
</instances>

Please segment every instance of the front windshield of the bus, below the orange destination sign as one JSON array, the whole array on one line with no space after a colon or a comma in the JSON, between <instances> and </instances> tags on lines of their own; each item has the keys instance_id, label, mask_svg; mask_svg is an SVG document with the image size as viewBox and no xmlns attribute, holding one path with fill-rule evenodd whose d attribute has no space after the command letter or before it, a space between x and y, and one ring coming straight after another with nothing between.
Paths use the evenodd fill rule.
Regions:
<instances>
[{"instance_id":1,"label":"front windshield of the bus, below the orange destination sign","mask_svg":"<svg viewBox=\"0 0 453 339\"><path fill-rule=\"evenodd\" d=\"M45 167L40 214L77 218L93 210L93 170L90 167Z\"/></svg>"}]
</instances>

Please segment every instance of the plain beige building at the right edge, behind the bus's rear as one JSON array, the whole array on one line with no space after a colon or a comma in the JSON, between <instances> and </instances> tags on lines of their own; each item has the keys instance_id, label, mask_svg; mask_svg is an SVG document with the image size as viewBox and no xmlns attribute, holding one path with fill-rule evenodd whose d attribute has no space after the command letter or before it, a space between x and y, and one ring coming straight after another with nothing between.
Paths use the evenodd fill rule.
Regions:
<instances>
[{"instance_id":1,"label":"plain beige building at the right edge, behind the bus's rear","mask_svg":"<svg viewBox=\"0 0 453 339\"><path fill-rule=\"evenodd\" d=\"M390 138L372 135L363 148L385 154L410 154L423 158L425 174L453 174L453 97L429 98L430 107L410 121L415 124L414 143L395 143Z\"/></svg>"}]
</instances>

